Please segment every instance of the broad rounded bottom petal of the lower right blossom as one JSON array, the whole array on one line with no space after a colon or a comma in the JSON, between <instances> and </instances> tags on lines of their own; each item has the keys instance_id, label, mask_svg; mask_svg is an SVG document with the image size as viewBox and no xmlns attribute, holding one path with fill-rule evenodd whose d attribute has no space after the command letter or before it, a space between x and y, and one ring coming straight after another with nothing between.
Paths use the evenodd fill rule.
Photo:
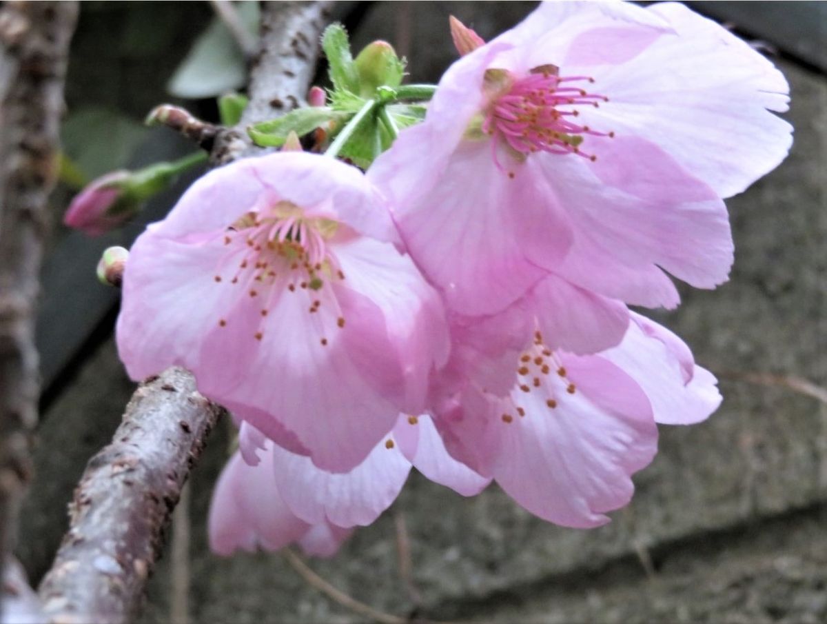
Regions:
<instances>
[{"instance_id":1,"label":"broad rounded bottom petal of the lower right blossom","mask_svg":"<svg viewBox=\"0 0 827 624\"><path fill-rule=\"evenodd\" d=\"M606 511L631 499L630 475L652 460L657 428L646 395L614 364L594 356L568 356L564 363L574 394L550 378L556 408L545 403L548 386L517 391L512 397L526 415L495 421L501 439L495 478L547 521L600 526L609 521Z\"/></svg>"}]
</instances>

